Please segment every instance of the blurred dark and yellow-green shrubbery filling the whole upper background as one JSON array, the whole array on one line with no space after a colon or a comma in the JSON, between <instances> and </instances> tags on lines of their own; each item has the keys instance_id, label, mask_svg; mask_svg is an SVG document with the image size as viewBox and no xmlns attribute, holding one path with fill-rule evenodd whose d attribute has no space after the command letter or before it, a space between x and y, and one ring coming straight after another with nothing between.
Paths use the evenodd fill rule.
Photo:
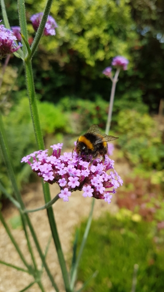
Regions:
<instances>
[{"instance_id":1,"label":"blurred dark and yellow-green shrubbery filling the whole upper background","mask_svg":"<svg viewBox=\"0 0 164 292\"><path fill-rule=\"evenodd\" d=\"M5 4L11 25L18 25L15 1ZM29 19L44 5L45 0L26 1L30 42L34 32ZM94 101L101 95L108 101L111 85L101 72L112 57L124 55L130 65L126 73L120 73L118 100L123 101L125 92L129 99L138 92L149 110L158 111L164 91L164 1L59 0L53 2L51 15L59 26L56 36L43 37L33 58L36 90L42 100L57 102L74 95ZM11 62L20 64L16 58ZM23 76L19 87L25 87Z\"/></svg>"}]
</instances>

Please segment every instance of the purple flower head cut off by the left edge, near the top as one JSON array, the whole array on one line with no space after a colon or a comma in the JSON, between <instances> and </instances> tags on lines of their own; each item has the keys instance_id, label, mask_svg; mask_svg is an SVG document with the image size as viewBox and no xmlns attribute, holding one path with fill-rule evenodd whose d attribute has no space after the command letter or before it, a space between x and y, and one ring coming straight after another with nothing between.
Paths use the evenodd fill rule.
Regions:
<instances>
[{"instance_id":1,"label":"purple flower head cut off by the left edge, near the top","mask_svg":"<svg viewBox=\"0 0 164 292\"><path fill-rule=\"evenodd\" d=\"M15 40L17 38L14 33L0 24L0 59L16 52L22 46L22 44L17 46Z\"/></svg>"}]
</instances>

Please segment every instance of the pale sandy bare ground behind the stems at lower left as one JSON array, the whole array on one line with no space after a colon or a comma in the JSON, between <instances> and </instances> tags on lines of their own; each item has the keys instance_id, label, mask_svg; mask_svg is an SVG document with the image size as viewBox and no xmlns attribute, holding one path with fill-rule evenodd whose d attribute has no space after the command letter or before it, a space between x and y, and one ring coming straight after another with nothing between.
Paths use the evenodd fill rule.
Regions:
<instances>
[{"instance_id":1,"label":"pale sandy bare ground behind the stems at lower left","mask_svg":"<svg viewBox=\"0 0 164 292\"><path fill-rule=\"evenodd\" d=\"M116 161L115 156L112 158ZM116 162L115 169L118 172L118 174L122 177L124 177L125 174L128 174L130 172L129 166L128 164L126 164L126 162L121 163ZM58 185L57 184L51 185L50 191L51 198L54 198L56 194L59 193ZM28 209L33 209L44 205L41 183L33 183L29 185L26 189L25 195L23 195L23 201L25 202L25 205ZM69 262L71 258L72 253L71 246L75 226L80 225L82 219L88 216L91 208L91 203L92 198L88 197L83 198L82 192L77 191L72 193L71 197L69 198L69 202L63 202L63 200L58 200L53 205L53 211L66 262ZM115 204L115 198L113 198L110 205L108 205L108 203L104 201L96 200L94 207L94 218L98 218L105 211L114 213L117 211L117 209L118 207ZM12 204L9 204L3 210L3 216L10 227L11 225L9 220L15 216L18 216L18 214L19 213L17 209ZM38 236L42 251L44 251L48 243L49 236L51 234L49 222L47 219L47 212L46 210L42 210L35 213L29 213L29 216L33 223L34 230ZM12 229L11 231L13 236L16 238L17 243L19 244L20 250L25 255L26 260L28 261L28 263L31 263L31 257L28 252L24 231L21 229ZM41 267L40 257L35 249L33 240L32 246L38 267ZM0 260L26 269L21 259L19 258L16 249L13 246L1 222L0 222ZM50 243L49 252L47 255L47 263L50 272L53 275L54 280L59 287L59 291L64 292L65 291L64 284L53 240L51 240ZM28 286L31 282L33 282L33 276L24 272L16 271L13 268L0 264L0 292L19 292L20 290ZM46 272L43 273L42 283L46 292L54 292L54 289L51 286L51 282ZM38 285L35 283L27 291L40 292L40 289Z\"/></svg>"}]
</instances>

